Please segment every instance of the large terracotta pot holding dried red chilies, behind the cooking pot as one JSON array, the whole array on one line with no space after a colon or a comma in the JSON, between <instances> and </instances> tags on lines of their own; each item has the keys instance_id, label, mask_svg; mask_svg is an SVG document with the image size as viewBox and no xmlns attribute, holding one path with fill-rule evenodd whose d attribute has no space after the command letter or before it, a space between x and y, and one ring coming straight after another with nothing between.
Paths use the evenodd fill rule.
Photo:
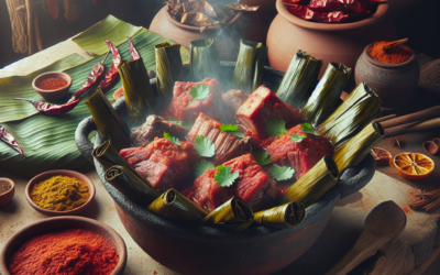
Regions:
<instances>
[{"instance_id":1,"label":"large terracotta pot holding dried red chilies, behind the cooking pot","mask_svg":"<svg viewBox=\"0 0 440 275\"><path fill-rule=\"evenodd\" d=\"M322 59L321 77L329 62L343 63L354 68L365 45L376 41L397 40L397 33L388 16L388 4L382 3L370 18L353 23L318 23L302 20L292 14L276 1L278 15L267 34L267 59L270 66L286 72L292 58L302 50ZM348 84L354 88L354 77Z\"/></svg>"}]
</instances>

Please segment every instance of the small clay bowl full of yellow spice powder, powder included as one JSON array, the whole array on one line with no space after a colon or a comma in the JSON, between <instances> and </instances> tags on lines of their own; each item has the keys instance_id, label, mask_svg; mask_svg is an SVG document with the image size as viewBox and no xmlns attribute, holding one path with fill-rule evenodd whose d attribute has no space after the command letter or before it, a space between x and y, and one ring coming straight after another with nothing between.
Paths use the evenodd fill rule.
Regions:
<instances>
[{"instance_id":1,"label":"small clay bowl full of yellow spice powder, powder included","mask_svg":"<svg viewBox=\"0 0 440 275\"><path fill-rule=\"evenodd\" d=\"M90 206L95 185L75 170L48 170L32 178L26 199L38 212L47 216L76 215Z\"/></svg>"}]
</instances>

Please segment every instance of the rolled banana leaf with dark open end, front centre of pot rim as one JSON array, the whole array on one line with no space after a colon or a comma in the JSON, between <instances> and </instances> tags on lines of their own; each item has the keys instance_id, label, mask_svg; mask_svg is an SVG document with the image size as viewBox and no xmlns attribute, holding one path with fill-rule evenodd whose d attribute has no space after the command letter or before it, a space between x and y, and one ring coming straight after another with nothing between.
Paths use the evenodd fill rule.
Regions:
<instances>
[{"instance_id":1,"label":"rolled banana leaf with dark open end, front centre of pot rim","mask_svg":"<svg viewBox=\"0 0 440 275\"><path fill-rule=\"evenodd\" d=\"M235 231L243 231L253 222L254 213L242 199L234 197L205 217L207 226L224 226Z\"/></svg>"}]
</instances>

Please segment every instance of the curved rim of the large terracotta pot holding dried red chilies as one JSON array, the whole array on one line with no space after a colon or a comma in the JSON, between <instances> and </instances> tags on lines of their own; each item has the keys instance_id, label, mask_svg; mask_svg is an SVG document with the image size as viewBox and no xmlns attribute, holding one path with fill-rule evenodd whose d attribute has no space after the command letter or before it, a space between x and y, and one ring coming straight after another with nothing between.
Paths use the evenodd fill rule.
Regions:
<instances>
[{"instance_id":1,"label":"curved rim of the large terracotta pot holding dried red chilies","mask_svg":"<svg viewBox=\"0 0 440 275\"><path fill-rule=\"evenodd\" d=\"M374 25L381 22L388 14L388 3L380 3L377 10L371 16L351 23L320 23L311 22L300 19L292 14L286 7L283 4L283 0L276 0L276 10L287 22L297 26L314 30L314 31L326 31L326 32L341 32L341 31L353 31L362 29L369 25Z\"/></svg>"}]
</instances>

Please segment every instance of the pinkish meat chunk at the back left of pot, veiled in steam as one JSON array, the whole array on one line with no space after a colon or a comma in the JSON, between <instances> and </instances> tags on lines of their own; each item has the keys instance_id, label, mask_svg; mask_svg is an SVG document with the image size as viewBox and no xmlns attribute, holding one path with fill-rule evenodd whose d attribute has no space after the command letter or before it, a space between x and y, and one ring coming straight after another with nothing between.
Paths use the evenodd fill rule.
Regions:
<instances>
[{"instance_id":1,"label":"pinkish meat chunk at the back left of pot, veiled in steam","mask_svg":"<svg viewBox=\"0 0 440 275\"><path fill-rule=\"evenodd\" d=\"M191 101L193 96L189 94L191 87L202 84L209 86L209 96L201 100L197 99ZM221 86L216 79L205 78L200 82L177 81L174 86L169 112L175 120L186 122L195 121L200 112L220 120L222 118L221 105Z\"/></svg>"}]
</instances>

